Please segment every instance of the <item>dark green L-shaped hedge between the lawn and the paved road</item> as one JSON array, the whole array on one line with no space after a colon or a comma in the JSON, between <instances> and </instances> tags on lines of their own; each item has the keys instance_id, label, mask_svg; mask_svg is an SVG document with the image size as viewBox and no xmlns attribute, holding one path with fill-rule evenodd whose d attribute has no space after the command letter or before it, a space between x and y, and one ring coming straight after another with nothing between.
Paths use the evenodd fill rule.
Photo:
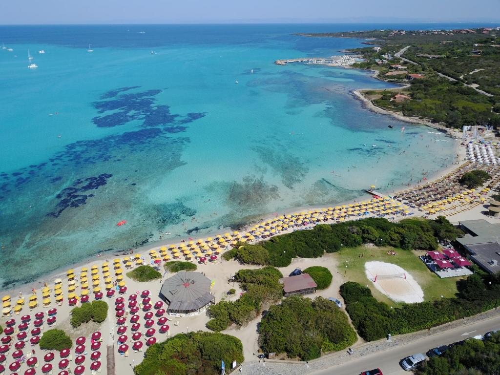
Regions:
<instances>
[{"instance_id":1,"label":"dark green L-shaped hedge between the lawn and the paved road","mask_svg":"<svg viewBox=\"0 0 500 375\"><path fill-rule=\"evenodd\" d=\"M390 334L414 332L464 316L486 311L500 304L500 275L472 274L457 283L456 297L443 297L390 308L376 300L368 287L348 281L340 286L345 310L358 334L372 341Z\"/></svg>"}]
</instances>

